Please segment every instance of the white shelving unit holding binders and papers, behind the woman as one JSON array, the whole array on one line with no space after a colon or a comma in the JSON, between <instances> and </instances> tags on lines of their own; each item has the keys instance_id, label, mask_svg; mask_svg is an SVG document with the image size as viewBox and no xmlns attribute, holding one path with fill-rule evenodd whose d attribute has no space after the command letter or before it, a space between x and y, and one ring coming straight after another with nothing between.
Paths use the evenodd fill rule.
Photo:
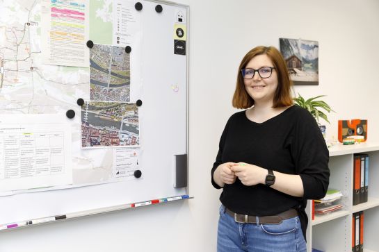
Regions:
<instances>
[{"instance_id":1,"label":"white shelving unit holding binders and papers, behind the woman","mask_svg":"<svg viewBox=\"0 0 379 252\"><path fill-rule=\"evenodd\" d=\"M369 166L369 199L353 205L354 153L367 153ZM353 213L364 210L364 252L379 252L377 228L379 226L379 144L361 143L337 145L329 148L330 188L341 190L344 208L325 215L315 215L312 220L312 201L307 203L309 224L307 251L351 251Z\"/></svg>"}]
</instances>

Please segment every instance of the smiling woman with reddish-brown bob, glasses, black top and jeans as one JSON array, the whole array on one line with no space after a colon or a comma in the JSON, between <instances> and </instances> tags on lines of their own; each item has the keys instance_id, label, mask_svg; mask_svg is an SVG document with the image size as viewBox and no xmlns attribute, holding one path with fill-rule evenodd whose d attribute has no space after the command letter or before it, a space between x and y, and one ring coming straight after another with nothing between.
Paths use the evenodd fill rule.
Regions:
<instances>
[{"instance_id":1,"label":"smiling woman with reddish-brown bob, glasses, black top and jeans","mask_svg":"<svg viewBox=\"0 0 379 252\"><path fill-rule=\"evenodd\" d=\"M314 117L293 106L275 47L245 55L233 106L245 110L227 121L211 170L223 188L218 251L307 251L305 206L325 196L329 152Z\"/></svg>"}]
</instances>

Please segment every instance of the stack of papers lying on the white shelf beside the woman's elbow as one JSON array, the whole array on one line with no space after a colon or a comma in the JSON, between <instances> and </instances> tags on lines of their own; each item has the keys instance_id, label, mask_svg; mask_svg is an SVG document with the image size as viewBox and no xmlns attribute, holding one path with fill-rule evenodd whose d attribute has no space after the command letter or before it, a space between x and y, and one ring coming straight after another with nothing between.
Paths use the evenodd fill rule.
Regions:
<instances>
[{"instance_id":1,"label":"stack of papers lying on the white shelf beside the woman's elbow","mask_svg":"<svg viewBox=\"0 0 379 252\"><path fill-rule=\"evenodd\" d=\"M330 189L326 192L323 199L314 200L314 213L316 215L324 215L329 212L334 212L344 207L339 203L339 199L343 194L339 190Z\"/></svg>"}]
</instances>

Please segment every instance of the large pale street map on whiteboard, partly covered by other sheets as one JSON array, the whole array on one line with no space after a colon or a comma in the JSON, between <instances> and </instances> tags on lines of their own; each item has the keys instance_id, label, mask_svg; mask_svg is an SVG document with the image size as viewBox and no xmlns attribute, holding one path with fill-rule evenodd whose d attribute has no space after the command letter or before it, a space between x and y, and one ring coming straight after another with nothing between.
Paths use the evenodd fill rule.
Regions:
<instances>
[{"instance_id":1,"label":"large pale street map on whiteboard, partly covered by other sheets","mask_svg":"<svg viewBox=\"0 0 379 252\"><path fill-rule=\"evenodd\" d=\"M70 126L65 127L71 129L70 149L72 151L67 154L67 158L70 160L69 167L72 168L72 184L71 181L56 183L55 185L53 183L51 184L53 186L43 187L40 190L60 189L65 187L65 183L67 183L67 187L112 183L115 179L113 166L116 164L115 160L113 160L113 151L116 148L82 148L81 108L76 101L79 98L85 101L89 100L89 67L71 67L66 66L66 64L47 65L42 56L42 51L45 51L43 37L46 31L42 27L44 25L42 22L45 20L42 18L42 7L50 6L51 8L50 4L56 2L61 1L52 0L47 5L46 1L42 2L41 0L12 0L2 1L0 4L0 33L2 34L0 36L0 118L7 114L13 114L17 115L20 120L24 120L29 117L29 114L31 114L31 117L36 116L36 118L38 118L38 115L43 114L59 114L67 119L65 117L67 110L74 110L76 116L70 119ZM80 3L80 1L70 1L70 3L75 4ZM95 44L106 44L106 42L98 40L99 37L106 34L103 33L102 29L98 30L98 28L103 27L100 26L103 17L110 15L110 19L113 20L112 12L105 11L108 10L107 6L111 7L111 11L113 1L91 0L90 3L90 6L87 7L93 10L90 12L92 21L88 21L90 21L92 28L98 35L98 37L90 37L90 40ZM103 13L104 15L102 15ZM85 17L87 16L85 15ZM67 20L62 16L61 21L66 22ZM108 29L106 31L109 31L110 40L113 37L112 27L112 21L110 26L104 26L104 28ZM141 31L138 32L136 38L140 39L138 36L140 33ZM108 45L112 45L112 42ZM115 46L115 44L113 45ZM123 44L117 46L124 47ZM85 45L83 50L88 51L88 57L85 59L88 66L90 49ZM135 80L131 88L130 101L136 101L136 99L140 98L140 55L140 47L137 43L132 47L130 54L131 66L134 65L131 70L131 78ZM111 69L114 69L114 67L111 67ZM49 117L49 119L54 121L54 117ZM128 121L131 120L128 118ZM40 123L41 121L37 122ZM118 124L120 124L120 127L121 122ZM136 122L133 121L132 124L122 125L122 132L120 133L120 137L122 137L121 144L138 147L140 145L140 135ZM130 127L130 129L127 127ZM135 129L132 131L133 127ZM48 130L50 131L50 129ZM134 131L138 133L134 133ZM120 145L120 149L126 150L124 146ZM125 167L125 169L129 170L131 167ZM44 184L28 185L26 187L29 189L25 190L28 192L37 191L38 189L30 188L39 187L39 185ZM5 193L15 194L22 192L24 191L3 191L1 196Z\"/></svg>"}]
</instances>

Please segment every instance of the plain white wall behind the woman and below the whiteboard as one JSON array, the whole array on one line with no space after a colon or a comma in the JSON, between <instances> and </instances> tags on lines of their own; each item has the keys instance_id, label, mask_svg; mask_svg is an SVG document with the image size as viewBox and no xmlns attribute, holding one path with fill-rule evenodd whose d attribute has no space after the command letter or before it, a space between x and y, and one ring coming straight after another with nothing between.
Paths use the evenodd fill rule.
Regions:
<instances>
[{"instance_id":1,"label":"plain white wall behind the woman and below the whiteboard","mask_svg":"<svg viewBox=\"0 0 379 252\"><path fill-rule=\"evenodd\" d=\"M176 0L190 6L189 188L195 199L0 233L0 251L216 251L218 196L210 169L229 115L236 72L257 45L279 37L319 43L318 86L337 120L369 120L379 142L379 1ZM1 207L1 206L0 206ZM27 211L27 209L25 209Z\"/></svg>"}]
</instances>

